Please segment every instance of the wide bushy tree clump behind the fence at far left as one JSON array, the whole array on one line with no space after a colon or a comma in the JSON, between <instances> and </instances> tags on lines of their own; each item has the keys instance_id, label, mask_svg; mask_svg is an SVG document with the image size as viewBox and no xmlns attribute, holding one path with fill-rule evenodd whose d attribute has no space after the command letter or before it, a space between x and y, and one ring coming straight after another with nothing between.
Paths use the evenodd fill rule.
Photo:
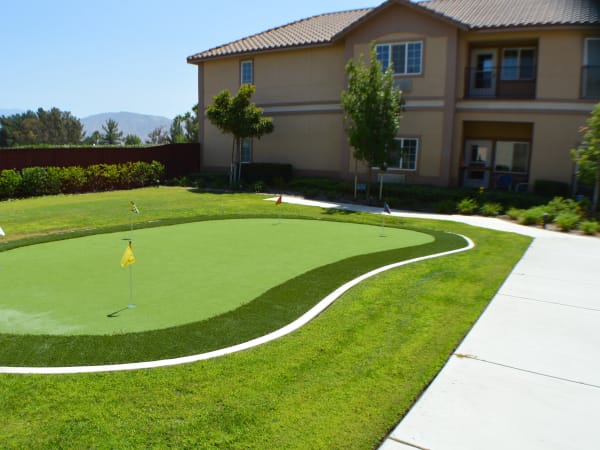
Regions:
<instances>
[{"instance_id":1,"label":"wide bushy tree clump behind the fence at far left","mask_svg":"<svg viewBox=\"0 0 600 450\"><path fill-rule=\"evenodd\" d=\"M0 147L79 144L83 139L81 121L58 108L2 116L0 127Z\"/></svg>"}]
</instances>

